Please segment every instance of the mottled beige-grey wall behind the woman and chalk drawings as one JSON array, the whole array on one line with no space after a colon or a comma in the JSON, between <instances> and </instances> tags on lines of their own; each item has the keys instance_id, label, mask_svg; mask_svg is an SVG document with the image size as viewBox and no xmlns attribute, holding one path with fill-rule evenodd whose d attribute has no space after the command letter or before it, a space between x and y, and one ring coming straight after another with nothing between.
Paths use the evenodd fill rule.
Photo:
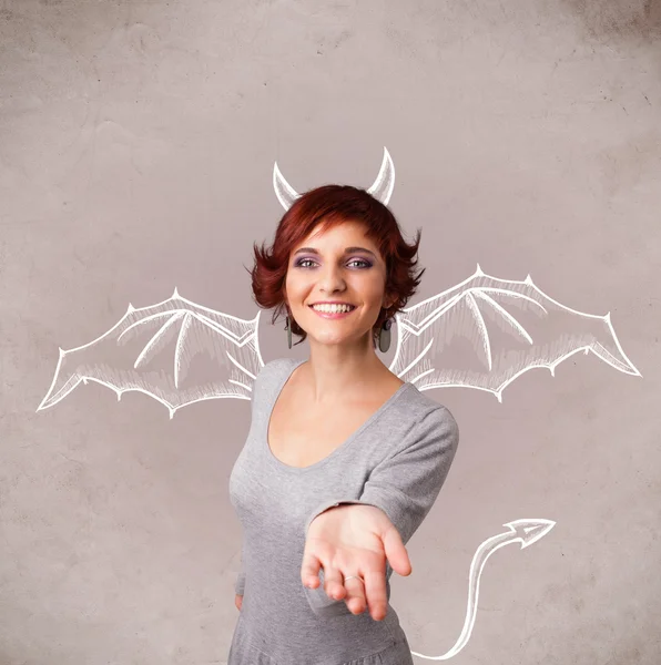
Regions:
<instances>
[{"instance_id":1,"label":"mottled beige-grey wall behind the woman and chalk drawings","mask_svg":"<svg viewBox=\"0 0 661 665\"><path fill-rule=\"evenodd\" d=\"M252 243L298 191L369 186L427 267L411 304L523 279L611 313L642 378L593 355L504 392L428 392L461 444L391 603L459 664L661 662L661 6L533 0L0 1L0 663L225 663L250 401L173 419L82 383L37 411L59 347L179 293L252 319ZM263 313L265 361L289 351ZM569 335L571 331L567 331ZM390 350L384 361L393 356ZM423 661L417 661L423 662Z\"/></svg>"}]
</instances>

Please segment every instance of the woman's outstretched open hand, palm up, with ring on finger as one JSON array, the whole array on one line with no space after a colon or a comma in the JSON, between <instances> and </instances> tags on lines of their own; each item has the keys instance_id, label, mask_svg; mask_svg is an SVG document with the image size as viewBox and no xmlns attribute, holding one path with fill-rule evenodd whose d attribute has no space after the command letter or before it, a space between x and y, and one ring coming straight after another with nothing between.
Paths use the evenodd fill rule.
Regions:
<instances>
[{"instance_id":1,"label":"woman's outstretched open hand, palm up, with ring on finger","mask_svg":"<svg viewBox=\"0 0 661 665\"><path fill-rule=\"evenodd\" d=\"M353 614L369 607L375 621L386 616L386 560L399 575L411 572L408 553L386 513L373 505L343 504L317 515L307 530L301 580L308 589L319 585L324 569L324 591L344 600ZM360 579L352 577L357 575Z\"/></svg>"}]
</instances>

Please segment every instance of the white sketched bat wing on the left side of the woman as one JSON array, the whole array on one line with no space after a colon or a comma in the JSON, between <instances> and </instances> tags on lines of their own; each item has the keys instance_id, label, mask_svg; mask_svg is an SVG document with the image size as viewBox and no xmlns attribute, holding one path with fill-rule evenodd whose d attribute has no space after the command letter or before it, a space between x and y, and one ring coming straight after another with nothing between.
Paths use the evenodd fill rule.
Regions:
<instances>
[{"instance_id":1,"label":"white sketched bat wing on the left side of the woman","mask_svg":"<svg viewBox=\"0 0 661 665\"><path fill-rule=\"evenodd\" d=\"M37 409L67 397L81 381L123 392L138 390L165 405L170 418L204 399L251 399L264 366L258 345L260 313L244 320L182 298L126 314L108 332L83 346L60 349L55 376Z\"/></svg>"}]
</instances>

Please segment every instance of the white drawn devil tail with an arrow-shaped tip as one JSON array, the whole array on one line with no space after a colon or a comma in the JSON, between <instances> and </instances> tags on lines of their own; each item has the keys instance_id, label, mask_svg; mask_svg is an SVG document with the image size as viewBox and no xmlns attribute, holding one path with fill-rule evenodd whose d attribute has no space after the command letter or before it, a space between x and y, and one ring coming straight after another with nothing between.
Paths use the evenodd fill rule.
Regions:
<instances>
[{"instance_id":1,"label":"white drawn devil tail with an arrow-shaped tip","mask_svg":"<svg viewBox=\"0 0 661 665\"><path fill-rule=\"evenodd\" d=\"M511 545L513 543L521 543L521 550L529 548L532 543L542 539L553 526L556 522L551 520L532 519L532 520L515 520L504 524L509 531L492 535L482 542L472 556L470 562L470 572L468 574L468 606L466 608L466 620L464 621L464 627L455 645L440 656L425 656L418 652L411 651L414 656L420 658L427 658L428 661L449 661L452 656L456 656L470 640L472 627L475 626L475 620L477 616L477 604L479 598L479 584L480 576L487 560L494 552L505 548L505 545Z\"/></svg>"}]
</instances>

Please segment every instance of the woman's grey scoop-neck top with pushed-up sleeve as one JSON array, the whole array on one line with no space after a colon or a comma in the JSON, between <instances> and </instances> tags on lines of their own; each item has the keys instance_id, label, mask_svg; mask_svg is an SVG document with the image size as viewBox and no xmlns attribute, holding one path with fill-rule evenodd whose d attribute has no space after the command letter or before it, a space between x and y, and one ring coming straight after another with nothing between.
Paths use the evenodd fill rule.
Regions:
<instances>
[{"instance_id":1,"label":"woman's grey scoop-neck top with pushed-up sleeve","mask_svg":"<svg viewBox=\"0 0 661 665\"><path fill-rule=\"evenodd\" d=\"M388 604L383 621L368 611L352 614L344 601L326 595L323 571L322 585L305 587L305 534L324 510L365 503L382 509L406 544L448 473L457 423L407 382L329 456L309 467L289 467L268 447L268 421L277 396L303 362L281 358L260 371L247 440L230 477L230 498L243 528L235 586L243 605L228 665L338 665L363 657L388 664L388 648L406 646L396 612ZM393 569L386 570L389 601ZM393 658L398 658L395 665L413 662L408 648Z\"/></svg>"}]
</instances>

